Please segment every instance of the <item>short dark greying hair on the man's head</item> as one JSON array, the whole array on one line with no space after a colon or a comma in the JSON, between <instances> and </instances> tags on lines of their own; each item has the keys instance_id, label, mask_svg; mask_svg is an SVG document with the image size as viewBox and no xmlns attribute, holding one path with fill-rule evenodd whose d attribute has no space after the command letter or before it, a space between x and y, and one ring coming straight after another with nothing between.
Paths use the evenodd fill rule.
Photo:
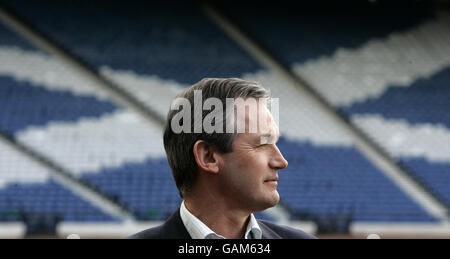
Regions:
<instances>
[{"instance_id":1,"label":"short dark greying hair on the man's head","mask_svg":"<svg viewBox=\"0 0 450 259\"><path fill-rule=\"evenodd\" d=\"M268 98L270 93L256 82L239 78L204 78L201 81L185 89L177 98L185 98L191 103L191 114L194 112L194 91L201 90L202 101L210 97L218 98L226 103L227 98ZM164 128L164 148L167 160L172 169L180 196L190 191L197 178L198 165L195 161L193 147L198 140L203 140L209 145L215 146L222 153L232 152L234 133L175 133L171 128L171 121L177 110L170 110ZM203 119L208 111L203 111ZM226 125L226 116L224 121ZM191 125L193 127L193 116ZM185 122L183 122L185 123ZM191 132L194 132L191 130ZM224 131L225 132L225 129Z\"/></svg>"}]
</instances>

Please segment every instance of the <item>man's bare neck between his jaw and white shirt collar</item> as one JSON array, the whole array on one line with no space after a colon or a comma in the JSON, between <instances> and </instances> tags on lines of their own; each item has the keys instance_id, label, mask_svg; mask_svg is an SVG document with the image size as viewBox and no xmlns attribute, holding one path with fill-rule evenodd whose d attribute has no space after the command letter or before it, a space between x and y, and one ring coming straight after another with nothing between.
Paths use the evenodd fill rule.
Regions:
<instances>
[{"instance_id":1,"label":"man's bare neck between his jaw and white shirt collar","mask_svg":"<svg viewBox=\"0 0 450 259\"><path fill-rule=\"evenodd\" d=\"M249 212L233 209L225 201L217 199L208 201L208 199L186 197L184 203L192 215L216 234L232 239L245 237L250 220Z\"/></svg>"}]
</instances>

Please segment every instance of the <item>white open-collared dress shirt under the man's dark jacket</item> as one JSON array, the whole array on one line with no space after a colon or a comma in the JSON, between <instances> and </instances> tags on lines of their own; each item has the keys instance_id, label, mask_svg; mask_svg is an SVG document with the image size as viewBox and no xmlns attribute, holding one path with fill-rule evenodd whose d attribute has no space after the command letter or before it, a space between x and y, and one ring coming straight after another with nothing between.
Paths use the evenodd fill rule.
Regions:
<instances>
[{"instance_id":1,"label":"white open-collared dress shirt under the man's dark jacket","mask_svg":"<svg viewBox=\"0 0 450 259\"><path fill-rule=\"evenodd\" d=\"M184 201L181 203L180 216L186 230L193 239L225 239L225 237L214 233L214 231L201 222L196 216L192 215L186 208L186 205L184 205ZM245 239L261 239L261 237L261 228L259 228L255 216L250 214L250 222L245 231Z\"/></svg>"}]
</instances>

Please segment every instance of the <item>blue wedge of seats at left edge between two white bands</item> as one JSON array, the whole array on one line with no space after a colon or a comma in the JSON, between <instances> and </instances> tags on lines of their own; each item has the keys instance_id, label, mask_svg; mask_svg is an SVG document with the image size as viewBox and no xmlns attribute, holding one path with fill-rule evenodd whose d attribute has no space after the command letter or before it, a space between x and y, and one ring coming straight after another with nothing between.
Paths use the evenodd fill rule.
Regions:
<instances>
[{"instance_id":1,"label":"blue wedge of seats at left edge between two white bands","mask_svg":"<svg viewBox=\"0 0 450 259\"><path fill-rule=\"evenodd\" d=\"M41 86L0 76L1 130L13 135L31 126L51 121L75 121L81 117L99 117L117 106L93 97L74 96L70 92L49 91Z\"/></svg>"}]
</instances>

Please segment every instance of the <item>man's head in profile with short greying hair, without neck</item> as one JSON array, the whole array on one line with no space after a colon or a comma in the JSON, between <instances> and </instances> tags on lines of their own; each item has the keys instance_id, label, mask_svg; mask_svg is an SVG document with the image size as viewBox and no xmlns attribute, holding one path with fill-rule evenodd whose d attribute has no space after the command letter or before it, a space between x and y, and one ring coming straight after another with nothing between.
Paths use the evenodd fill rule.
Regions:
<instances>
[{"instance_id":1,"label":"man's head in profile with short greying hair, without neck","mask_svg":"<svg viewBox=\"0 0 450 259\"><path fill-rule=\"evenodd\" d=\"M201 91L200 104L194 102L195 93L199 93L197 90ZM237 78L206 78L178 97L191 104L189 112L192 116L183 117L183 120L187 118L190 121L182 121L182 124L190 123L191 133L173 130L172 120L180 111L171 109L164 131L164 147L180 195L185 197L200 175L212 179L211 184L215 184L218 193L239 199L246 208L258 211L276 205L279 201L275 181L277 170L285 168L287 161L275 145L278 127L266 105L260 105L261 98L269 97L267 90L257 83ZM224 133L195 130L198 117L194 113L211 97L220 100L224 107L227 98L245 100L244 103L235 103L231 111L223 108L222 116L216 117L216 124L223 122ZM238 110L244 112L239 113ZM202 119L210 112L203 109ZM258 123L260 121L264 123ZM230 123L243 123L245 132L237 133L237 127L233 127L234 131L230 133L226 130ZM255 123L257 130L249 131L250 125Z\"/></svg>"}]
</instances>

